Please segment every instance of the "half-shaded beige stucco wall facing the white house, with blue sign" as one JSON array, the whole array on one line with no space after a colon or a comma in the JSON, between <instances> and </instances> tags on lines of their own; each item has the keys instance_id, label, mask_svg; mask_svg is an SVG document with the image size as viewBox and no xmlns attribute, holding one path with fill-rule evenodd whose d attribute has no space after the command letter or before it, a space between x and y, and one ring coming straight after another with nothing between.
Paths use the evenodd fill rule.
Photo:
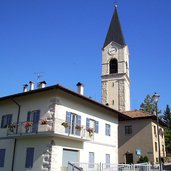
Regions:
<instances>
[{"instance_id":1,"label":"half-shaded beige stucco wall facing the white house, with blue sign","mask_svg":"<svg viewBox=\"0 0 171 171\"><path fill-rule=\"evenodd\" d=\"M132 125L132 134L125 135L125 126ZM153 161L153 143L151 120L131 120L119 123L119 163L125 163L125 154L133 154L133 162L137 163L136 149L141 149L142 156Z\"/></svg>"}]
</instances>

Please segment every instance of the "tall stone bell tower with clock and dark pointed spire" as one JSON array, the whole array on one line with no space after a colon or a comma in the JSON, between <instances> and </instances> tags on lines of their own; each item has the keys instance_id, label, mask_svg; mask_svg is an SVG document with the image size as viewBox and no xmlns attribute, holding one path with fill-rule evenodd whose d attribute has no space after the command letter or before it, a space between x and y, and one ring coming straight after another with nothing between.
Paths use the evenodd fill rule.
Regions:
<instances>
[{"instance_id":1,"label":"tall stone bell tower with clock and dark pointed spire","mask_svg":"<svg viewBox=\"0 0 171 171\"><path fill-rule=\"evenodd\" d=\"M102 103L121 112L130 110L129 49L117 5L102 48Z\"/></svg>"}]
</instances>

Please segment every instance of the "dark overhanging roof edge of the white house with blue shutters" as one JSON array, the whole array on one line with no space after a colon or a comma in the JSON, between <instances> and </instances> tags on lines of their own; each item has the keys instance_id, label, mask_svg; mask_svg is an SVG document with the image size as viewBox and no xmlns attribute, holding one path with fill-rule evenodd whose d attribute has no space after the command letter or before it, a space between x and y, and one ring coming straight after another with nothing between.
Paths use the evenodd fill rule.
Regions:
<instances>
[{"instance_id":1,"label":"dark overhanging roof edge of the white house with blue shutters","mask_svg":"<svg viewBox=\"0 0 171 171\"><path fill-rule=\"evenodd\" d=\"M30 90L30 91L22 92L22 93L18 93L18 94L13 94L13 95L9 95L9 96L0 97L0 101L10 100L10 99L13 100L14 98L17 98L17 97L22 97L22 96L27 96L27 95L32 95L32 94L38 94L38 93L41 93L41 92L47 92L47 91L55 90L55 89L61 90L63 92L66 92L68 94L71 94L73 96L81 98L83 100L89 101L90 103L92 103L94 105L97 105L99 107L102 107L102 108L104 108L106 110L109 110L111 112L115 112L115 113L118 114L119 120L127 120L127 119L129 119L129 117L126 116L125 114L123 114L123 113L121 113L121 112L119 112L117 110L114 110L114 109L112 109L112 108L110 108L110 107L108 107L106 105L103 105L102 103L99 103L99 102L97 102L95 100L92 100L92 99L90 99L90 98L88 98L88 97L86 97L84 95L81 95L81 94L79 94L77 92L74 92L74 91L72 91L70 89L67 89L67 88L65 88L65 87L63 87L63 86L61 86L59 84L48 86L48 87L45 87L45 88L34 89L34 90Z\"/></svg>"}]
</instances>

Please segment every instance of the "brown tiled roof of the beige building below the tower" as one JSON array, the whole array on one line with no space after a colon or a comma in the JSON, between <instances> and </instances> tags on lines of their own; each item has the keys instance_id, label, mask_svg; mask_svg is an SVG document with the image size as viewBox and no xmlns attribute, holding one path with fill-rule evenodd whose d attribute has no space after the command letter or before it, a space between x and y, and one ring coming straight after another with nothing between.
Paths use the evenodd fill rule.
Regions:
<instances>
[{"instance_id":1,"label":"brown tiled roof of the beige building below the tower","mask_svg":"<svg viewBox=\"0 0 171 171\"><path fill-rule=\"evenodd\" d=\"M152 119L155 121L157 120L156 115L153 115L148 112L144 112L142 110L125 111L123 113L127 115L128 117L130 117L131 119ZM159 119L159 124L167 127L167 124L165 124L161 119Z\"/></svg>"}]
</instances>

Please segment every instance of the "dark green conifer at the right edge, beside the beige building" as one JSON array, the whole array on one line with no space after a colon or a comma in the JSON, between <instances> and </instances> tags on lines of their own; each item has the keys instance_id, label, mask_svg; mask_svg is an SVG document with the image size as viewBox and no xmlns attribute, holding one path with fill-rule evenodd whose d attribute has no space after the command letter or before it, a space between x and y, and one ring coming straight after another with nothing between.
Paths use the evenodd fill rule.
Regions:
<instances>
[{"instance_id":1,"label":"dark green conifer at the right edge, beside the beige building","mask_svg":"<svg viewBox=\"0 0 171 171\"><path fill-rule=\"evenodd\" d=\"M165 128L164 135L166 153L167 155L171 155L171 111L169 105L166 106L166 110L163 113L162 119L168 125L168 127Z\"/></svg>"}]
</instances>

